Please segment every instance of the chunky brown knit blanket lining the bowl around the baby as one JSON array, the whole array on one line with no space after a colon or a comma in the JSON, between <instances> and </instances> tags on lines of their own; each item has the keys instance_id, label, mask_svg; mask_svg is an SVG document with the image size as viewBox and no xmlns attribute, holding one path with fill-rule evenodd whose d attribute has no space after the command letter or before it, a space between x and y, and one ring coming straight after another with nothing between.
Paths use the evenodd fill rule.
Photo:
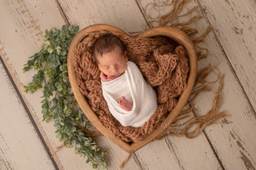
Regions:
<instances>
[{"instance_id":1,"label":"chunky brown knit blanket lining the bowl around the baby","mask_svg":"<svg viewBox=\"0 0 256 170\"><path fill-rule=\"evenodd\" d=\"M96 40L109 34L94 32L85 37L76 49L74 67L81 93L105 127L118 139L136 142L156 129L177 104L185 90L188 75L188 59L185 48L166 37L133 38L111 33L124 43L128 60L135 62L145 80L155 89L158 109L142 127L123 127L110 113L102 95L99 69L91 56Z\"/></svg>"}]
</instances>

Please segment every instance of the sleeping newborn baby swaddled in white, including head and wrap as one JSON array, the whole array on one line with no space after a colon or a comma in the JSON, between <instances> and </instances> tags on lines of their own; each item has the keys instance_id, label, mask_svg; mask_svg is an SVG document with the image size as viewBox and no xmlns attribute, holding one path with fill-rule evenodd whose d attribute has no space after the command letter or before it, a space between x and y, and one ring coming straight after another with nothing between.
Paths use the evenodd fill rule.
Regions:
<instances>
[{"instance_id":1,"label":"sleeping newborn baby swaddled in white, including head and wrap","mask_svg":"<svg viewBox=\"0 0 256 170\"><path fill-rule=\"evenodd\" d=\"M128 61L122 42L116 36L101 36L92 53L111 114L124 127L143 126L158 107L157 96L137 65Z\"/></svg>"}]
</instances>

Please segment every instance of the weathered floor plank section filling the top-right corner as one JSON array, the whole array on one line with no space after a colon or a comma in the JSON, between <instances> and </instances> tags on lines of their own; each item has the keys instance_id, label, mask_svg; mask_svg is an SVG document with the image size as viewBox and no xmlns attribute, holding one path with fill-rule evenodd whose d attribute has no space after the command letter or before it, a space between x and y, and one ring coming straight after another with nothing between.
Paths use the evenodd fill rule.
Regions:
<instances>
[{"instance_id":1,"label":"weathered floor plank section filling the top-right corner","mask_svg":"<svg viewBox=\"0 0 256 170\"><path fill-rule=\"evenodd\" d=\"M253 8L255 1L253 3L251 0L200 0L199 5L205 11L205 18L214 27L214 33L218 36L219 43L255 111L256 13Z\"/></svg>"}]
</instances>

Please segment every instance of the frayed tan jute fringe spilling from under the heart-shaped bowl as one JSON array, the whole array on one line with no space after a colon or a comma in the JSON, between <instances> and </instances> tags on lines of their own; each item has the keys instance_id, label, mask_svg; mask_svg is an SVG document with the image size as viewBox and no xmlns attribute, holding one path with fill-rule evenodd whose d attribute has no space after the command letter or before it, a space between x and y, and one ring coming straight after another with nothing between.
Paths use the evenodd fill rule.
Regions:
<instances>
[{"instance_id":1,"label":"frayed tan jute fringe spilling from under the heart-shaped bowl","mask_svg":"<svg viewBox=\"0 0 256 170\"><path fill-rule=\"evenodd\" d=\"M156 0L153 1L153 3L148 3L144 11L150 11L150 10L156 10L158 12L158 16L152 17L149 14L145 14L145 16L148 17L150 20L149 24L150 27L153 27L153 23L158 23L159 26L172 26L181 29L185 32L187 36L189 36L192 39L192 42L194 43L195 47L197 47L197 56L198 60L204 59L208 56L208 49L201 48L197 43L204 42L205 36L208 35L208 33L212 30L212 26L209 26L205 32L198 37L194 37L197 33L197 29L193 29L190 27L187 27L185 25L189 25L191 23L195 23L196 21L201 18L200 12L197 9L197 7L192 8L192 10L187 10L187 12L183 15L179 15L181 9L184 7L185 3L188 3L190 0L173 0L171 3L169 1L165 2L157 2ZM167 14L161 16L160 11L158 8L171 6L172 10L170 10ZM150 8L148 10L148 8ZM196 16L192 16L192 18L184 23L173 23L175 20L177 20L179 17L187 16L189 14L192 14L193 11L197 12ZM141 31L136 32L138 34ZM205 54L202 52L205 50ZM217 67L212 67L211 64L209 64L209 67L206 67L204 69L200 69L197 75L197 79L195 82L195 86L192 90L192 94L190 95L190 100L188 101L187 105L185 106L186 109L184 109L179 116L172 122L172 124L166 128L165 132L160 134L157 138L155 138L153 141L159 141L164 139L167 136L174 135L174 136L185 136L186 138L192 139L197 137L206 126L211 125L213 122L219 120L223 117L229 117L229 115L226 114L226 112L218 112L219 106L220 106L220 95L221 90L223 88L223 82L224 82L224 75L220 75L219 69L217 74L214 70L217 69ZM210 74L214 73L218 76L216 81L206 81L206 77ZM219 90L218 92L214 92L210 86L208 86L209 83L215 83L219 81ZM204 92L212 92L215 94L215 97L212 102L212 108L205 114L205 115L199 115L197 114L197 109L194 107L193 101L195 98L204 93ZM191 114L193 113L193 114ZM193 116L193 117L192 117ZM187 120L188 119L188 120ZM186 120L186 121L185 121ZM182 122L185 121L185 122ZM163 125L164 126L164 125ZM196 127L195 127L196 126ZM193 130L192 130L192 127ZM127 158L122 162L120 165L120 168L123 168L125 166L125 163L131 158L130 153Z\"/></svg>"}]
</instances>

